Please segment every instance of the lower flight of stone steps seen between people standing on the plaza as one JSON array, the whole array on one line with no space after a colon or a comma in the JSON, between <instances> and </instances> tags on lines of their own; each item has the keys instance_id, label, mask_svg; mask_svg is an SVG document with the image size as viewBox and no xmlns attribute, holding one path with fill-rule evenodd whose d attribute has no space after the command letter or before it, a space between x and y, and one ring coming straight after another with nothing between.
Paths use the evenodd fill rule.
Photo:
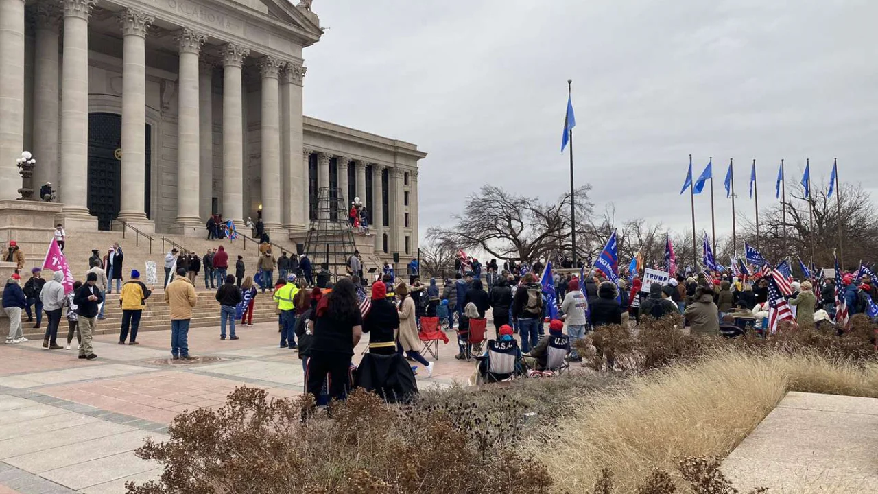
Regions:
<instances>
[{"instance_id":1,"label":"lower flight of stone steps seen between people standing on the plaza","mask_svg":"<svg viewBox=\"0 0 878 494\"><path fill-rule=\"evenodd\" d=\"M123 248L124 249L124 248ZM196 290L198 293L198 302L192 309L191 327L219 326L219 303L214 299L215 292L213 290L205 290L204 288ZM147 300L147 308L143 309L143 315L140 316L140 331L161 331L170 329L170 309L167 304L162 301L162 291L156 290ZM122 309L119 307L119 294L110 294L108 296L109 303L104 308L104 320L97 322L97 334L113 334L119 333L122 327ZM271 294L256 294L255 307L253 308L254 323L268 323L277 321L275 308L277 304L271 300ZM24 316L24 331L27 338L40 339L46 331L46 315L43 314L42 327L34 329L33 323L26 323L27 316ZM61 318L61 325L58 328L59 335L67 334L67 320ZM59 337L61 338L61 337Z\"/></svg>"}]
</instances>

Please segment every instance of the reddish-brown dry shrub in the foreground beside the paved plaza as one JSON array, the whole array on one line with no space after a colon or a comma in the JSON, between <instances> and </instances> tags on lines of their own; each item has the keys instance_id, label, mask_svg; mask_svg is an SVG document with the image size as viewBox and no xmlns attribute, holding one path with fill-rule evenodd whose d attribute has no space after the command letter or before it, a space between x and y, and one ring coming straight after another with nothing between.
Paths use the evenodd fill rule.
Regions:
<instances>
[{"instance_id":1,"label":"reddish-brown dry shrub in the foreground beside the paved plaza","mask_svg":"<svg viewBox=\"0 0 878 494\"><path fill-rule=\"evenodd\" d=\"M500 405L502 403L499 403ZM263 389L236 389L219 410L175 418L170 440L147 440L140 458L160 461L159 482L129 483L128 494L286 494L548 492L552 479L500 432L496 417L470 410L452 417L427 408L387 406L356 390L332 418L302 423L308 397L268 400ZM505 417L508 418L508 417ZM483 420L491 422L486 425Z\"/></svg>"}]
</instances>

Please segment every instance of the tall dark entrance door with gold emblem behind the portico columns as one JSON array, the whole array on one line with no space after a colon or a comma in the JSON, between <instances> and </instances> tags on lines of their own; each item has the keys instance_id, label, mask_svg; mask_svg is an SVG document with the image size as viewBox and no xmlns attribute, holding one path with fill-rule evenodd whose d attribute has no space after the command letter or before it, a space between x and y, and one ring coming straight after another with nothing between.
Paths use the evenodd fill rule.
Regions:
<instances>
[{"instance_id":1,"label":"tall dark entrance door with gold emblem behind the portico columns","mask_svg":"<svg viewBox=\"0 0 878 494\"><path fill-rule=\"evenodd\" d=\"M150 132L146 126L147 159L144 163L145 204L149 216ZM122 116L89 113L89 213L97 216L97 228L110 229L119 216L121 190Z\"/></svg>"}]
</instances>

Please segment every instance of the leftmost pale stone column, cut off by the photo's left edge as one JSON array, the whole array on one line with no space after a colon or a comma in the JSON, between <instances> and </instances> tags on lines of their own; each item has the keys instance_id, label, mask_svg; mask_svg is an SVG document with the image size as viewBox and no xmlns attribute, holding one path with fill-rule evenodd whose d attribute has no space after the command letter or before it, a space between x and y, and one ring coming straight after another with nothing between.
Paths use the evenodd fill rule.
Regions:
<instances>
[{"instance_id":1,"label":"leftmost pale stone column, cut off by the photo's left edge","mask_svg":"<svg viewBox=\"0 0 878 494\"><path fill-rule=\"evenodd\" d=\"M0 0L0 200L18 198L15 160L24 146L25 0Z\"/></svg>"}]
</instances>

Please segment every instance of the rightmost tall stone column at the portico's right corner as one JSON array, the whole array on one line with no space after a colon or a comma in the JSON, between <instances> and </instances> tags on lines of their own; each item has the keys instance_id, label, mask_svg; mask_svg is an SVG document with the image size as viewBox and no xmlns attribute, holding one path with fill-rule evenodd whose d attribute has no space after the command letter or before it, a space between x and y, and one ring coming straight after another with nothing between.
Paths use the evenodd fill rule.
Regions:
<instances>
[{"instance_id":1,"label":"rightmost tall stone column at the portico's right corner","mask_svg":"<svg viewBox=\"0 0 878 494\"><path fill-rule=\"evenodd\" d=\"M282 149L283 166L288 167L284 185L284 228L293 231L306 229L308 214L308 160L299 161L298 150L302 149L302 82L306 68L298 62L287 62L281 77L281 91L284 94ZM304 167L302 166L304 164ZM302 208L304 198L305 209Z\"/></svg>"}]
</instances>

